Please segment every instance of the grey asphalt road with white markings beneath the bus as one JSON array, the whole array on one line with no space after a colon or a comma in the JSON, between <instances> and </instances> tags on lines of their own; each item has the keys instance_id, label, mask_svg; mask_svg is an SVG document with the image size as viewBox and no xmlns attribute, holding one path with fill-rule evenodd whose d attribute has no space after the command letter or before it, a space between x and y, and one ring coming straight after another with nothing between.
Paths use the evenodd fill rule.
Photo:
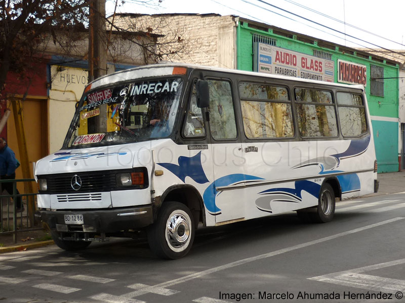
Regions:
<instances>
[{"instance_id":1,"label":"grey asphalt road with white markings beneath the bus","mask_svg":"<svg viewBox=\"0 0 405 303\"><path fill-rule=\"evenodd\" d=\"M339 202L327 224L295 213L198 230L183 259L114 239L0 255L0 302L405 302L405 193Z\"/></svg>"}]
</instances>

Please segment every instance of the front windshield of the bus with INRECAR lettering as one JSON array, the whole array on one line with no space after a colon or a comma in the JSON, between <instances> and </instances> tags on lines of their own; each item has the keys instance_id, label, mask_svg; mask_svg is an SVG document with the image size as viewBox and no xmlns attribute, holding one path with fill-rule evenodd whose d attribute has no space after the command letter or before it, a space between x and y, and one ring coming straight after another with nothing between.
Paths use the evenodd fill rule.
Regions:
<instances>
[{"instance_id":1,"label":"front windshield of the bus with INRECAR lettering","mask_svg":"<svg viewBox=\"0 0 405 303\"><path fill-rule=\"evenodd\" d=\"M173 131L183 81L160 78L86 93L65 140L66 148L165 138Z\"/></svg>"}]
</instances>

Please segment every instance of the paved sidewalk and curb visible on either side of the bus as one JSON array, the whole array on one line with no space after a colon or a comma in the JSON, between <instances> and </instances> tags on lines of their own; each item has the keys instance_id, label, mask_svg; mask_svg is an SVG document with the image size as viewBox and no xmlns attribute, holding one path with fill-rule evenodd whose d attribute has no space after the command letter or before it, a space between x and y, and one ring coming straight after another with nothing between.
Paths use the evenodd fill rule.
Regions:
<instances>
[{"instance_id":1,"label":"paved sidewalk and curb visible on either side of the bus","mask_svg":"<svg viewBox=\"0 0 405 303\"><path fill-rule=\"evenodd\" d=\"M405 191L405 171L381 173L378 174L378 179L380 180L380 188L378 192L371 193L366 196L384 195L388 193ZM30 240L27 240L27 237L29 237ZM5 235L0 233L0 254L2 254L3 252L26 250L54 244L53 240L41 240L47 239L49 237L49 232L47 230L21 232L18 233L17 244L14 244L12 241L12 235Z\"/></svg>"}]
</instances>

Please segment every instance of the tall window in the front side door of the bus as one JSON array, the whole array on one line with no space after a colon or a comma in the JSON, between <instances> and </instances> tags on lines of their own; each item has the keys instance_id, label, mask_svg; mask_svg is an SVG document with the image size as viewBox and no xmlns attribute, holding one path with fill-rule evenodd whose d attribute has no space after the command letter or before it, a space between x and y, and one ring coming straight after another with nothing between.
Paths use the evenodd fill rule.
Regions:
<instances>
[{"instance_id":1,"label":"tall window in the front side door of the bus","mask_svg":"<svg viewBox=\"0 0 405 303\"><path fill-rule=\"evenodd\" d=\"M236 138L235 112L228 81L208 80L210 86L210 130L214 139Z\"/></svg>"}]
</instances>

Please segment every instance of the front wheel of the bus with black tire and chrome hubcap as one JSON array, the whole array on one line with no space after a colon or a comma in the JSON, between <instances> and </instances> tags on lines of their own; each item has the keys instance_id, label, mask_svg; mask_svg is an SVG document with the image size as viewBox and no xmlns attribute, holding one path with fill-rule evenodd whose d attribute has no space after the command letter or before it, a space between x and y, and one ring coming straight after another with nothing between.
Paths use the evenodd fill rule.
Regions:
<instances>
[{"instance_id":1,"label":"front wheel of the bus with black tire and chrome hubcap","mask_svg":"<svg viewBox=\"0 0 405 303\"><path fill-rule=\"evenodd\" d=\"M187 255L194 241L194 220L187 206L165 202L156 222L147 229L150 249L160 258L179 259Z\"/></svg>"}]
</instances>

